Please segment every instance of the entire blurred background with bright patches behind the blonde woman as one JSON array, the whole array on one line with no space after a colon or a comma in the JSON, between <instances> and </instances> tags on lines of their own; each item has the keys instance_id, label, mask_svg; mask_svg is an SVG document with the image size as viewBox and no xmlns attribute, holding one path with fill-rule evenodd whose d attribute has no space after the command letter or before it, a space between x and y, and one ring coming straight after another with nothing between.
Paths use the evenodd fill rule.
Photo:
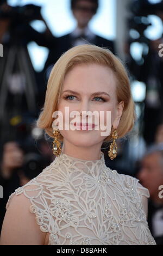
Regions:
<instances>
[{"instance_id":1,"label":"entire blurred background with bright patches behind the blonde woman","mask_svg":"<svg viewBox=\"0 0 163 256\"><path fill-rule=\"evenodd\" d=\"M36 127L49 74L62 53L90 42L107 47L128 69L134 129L117 139L106 165L148 188L148 224L163 245L163 1L1 0L0 233L5 204L17 187L53 160L52 139Z\"/></svg>"}]
</instances>

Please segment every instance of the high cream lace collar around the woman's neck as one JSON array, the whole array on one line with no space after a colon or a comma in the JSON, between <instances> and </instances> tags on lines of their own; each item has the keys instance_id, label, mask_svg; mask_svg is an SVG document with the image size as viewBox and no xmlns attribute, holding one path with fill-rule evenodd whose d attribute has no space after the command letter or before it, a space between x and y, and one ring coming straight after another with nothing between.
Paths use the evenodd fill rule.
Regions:
<instances>
[{"instance_id":1,"label":"high cream lace collar around the woman's neck","mask_svg":"<svg viewBox=\"0 0 163 256\"><path fill-rule=\"evenodd\" d=\"M106 168L104 153L101 151L101 159L84 160L77 157L69 156L63 152L55 157L55 164L61 164L66 167L69 172L80 171L87 174L99 175Z\"/></svg>"}]
</instances>

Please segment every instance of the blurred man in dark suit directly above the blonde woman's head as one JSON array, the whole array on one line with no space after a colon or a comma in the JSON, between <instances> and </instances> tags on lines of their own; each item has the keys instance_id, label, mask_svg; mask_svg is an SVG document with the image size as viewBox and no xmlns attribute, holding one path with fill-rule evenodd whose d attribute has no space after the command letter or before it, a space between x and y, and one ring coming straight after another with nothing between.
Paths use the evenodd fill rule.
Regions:
<instances>
[{"instance_id":1,"label":"blurred man in dark suit directly above the blonde woman's head","mask_svg":"<svg viewBox=\"0 0 163 256\"><path fill-rule=\"evenodd\" d=\"M70 0L70 7L77 26L71 33L58 38L57 51L54 48L49 51L44 67L46 79L48 79L53 65L60 58L61 54L71 47L90 43L109 48L113 53L116 52L114 41L96 35L89 27L89 22L97 14L99 7L98 0Z\"/></svg>"}]
</instances>

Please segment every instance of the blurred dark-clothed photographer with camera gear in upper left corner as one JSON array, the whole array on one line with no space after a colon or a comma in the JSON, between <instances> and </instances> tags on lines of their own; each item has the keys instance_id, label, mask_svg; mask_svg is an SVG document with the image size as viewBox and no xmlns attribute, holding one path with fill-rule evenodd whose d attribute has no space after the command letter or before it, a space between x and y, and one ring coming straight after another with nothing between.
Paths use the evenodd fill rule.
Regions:
<instances>
[{"instance_id":1,"label":"blurred dark-clothed photographer with camera gear in upper left corner","mask_svg":"<svg viewBox=\"0 0 163 256\"><path fill-rule=\"evenodd\" d=\"M30 22L41 20L46 29L37 32ZM3 58L0 62L0 120L2 131L9 130L10 117L24 113L37 115L45 96L43 74L36 72L27 45L35 41L40 46L55 48L55 37L41 15L41 7L27 4L11 7L0 4L0 43Z\"/></svg>"}]
</instances>

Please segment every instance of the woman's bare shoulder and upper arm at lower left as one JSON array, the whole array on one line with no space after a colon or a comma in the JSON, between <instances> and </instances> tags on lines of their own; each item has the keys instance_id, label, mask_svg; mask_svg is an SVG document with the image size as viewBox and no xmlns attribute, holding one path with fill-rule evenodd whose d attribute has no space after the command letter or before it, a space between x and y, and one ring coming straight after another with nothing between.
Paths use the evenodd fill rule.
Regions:
<instances>
[{"instance_id":1,"label":"woman's bare shoulder and upper arm at lower left","mask_svg":"<svg viewBox=\"0 0 163 256\"><path fill-rule=\"evenodd\" d=\"M28 188L34 189L35 185ZM29 211L31 202L24 193L12 193L5 213L2 230L1 245L43 245L46 233L43 233L35 220L35 215Z\"/></svg>"}]
</instances>

